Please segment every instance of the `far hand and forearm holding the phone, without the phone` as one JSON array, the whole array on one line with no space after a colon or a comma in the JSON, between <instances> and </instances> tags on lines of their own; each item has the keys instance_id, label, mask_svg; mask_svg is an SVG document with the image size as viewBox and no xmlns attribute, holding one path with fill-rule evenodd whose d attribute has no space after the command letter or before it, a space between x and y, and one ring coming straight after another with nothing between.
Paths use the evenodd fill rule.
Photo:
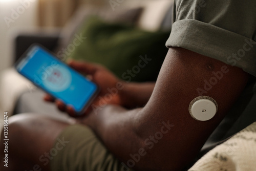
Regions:
<instances>
[{"instance_id":1,"label":"far hand and forearm holding the phone, without the phone","mask_svg":"<svg viewBox=\"0 0 256 171\"><path fill-rule=\"evenodd\" d=\"M116 90L118 90L119 87L122 87L122 90L118 90L117 94L114 94L115 92L112 93L112 99L106 102L108 102L108 104L121 105L127 109L144 106L147 103L148 99L150 99L153 89L155 87L155 82L126 83L122 80L119 80L106 68L95 63L70 61L69 66L78 72L88 74L88 77L93 82L96 82L98 84L100 88L100 93L98 95L99 97L104 97L105 94L110 93L110 91L108 90L110 88L115 88ZM55 102L56 106L60 111L67 112L70 116L76 117L72 106L66 106L63 102L61 102L61 100L56 100L49 94L44 97L44 100L49 102ZM103 103L104 102L102 102L102 98L96 98L93 102L93 104L96 106L101 106L100 104ZM92 106L90 106L89 109L84 112L83 116L88 115L92 110Z\"/></svg>"}]
</instances>

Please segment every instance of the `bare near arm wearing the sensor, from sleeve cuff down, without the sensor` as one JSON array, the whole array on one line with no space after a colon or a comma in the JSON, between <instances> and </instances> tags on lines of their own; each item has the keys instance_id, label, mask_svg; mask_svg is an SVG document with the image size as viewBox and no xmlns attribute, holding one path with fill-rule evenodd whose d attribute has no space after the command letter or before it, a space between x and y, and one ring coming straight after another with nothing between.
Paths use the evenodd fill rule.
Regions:
<instances>
[{"instance_id":1,"label":"bare near arm wearing the sensor, from sleeve cuff down, without the sensor","mask_svg":"<svg viewBox=\"0 0 256 171\"><path fill-rule=\"evenodd\" d=\"M143 108L127 111L108 105L97 115L89 115L84 123L126 165L135 164L137 170L180 170L200 151L247 79L242 69L189 50L170 48ZM205 86L206 82L212 85ZM191 100L200 95L214 98L219 106L208 121L197 121L188 112Z\"/></svg>"}]
</instances>

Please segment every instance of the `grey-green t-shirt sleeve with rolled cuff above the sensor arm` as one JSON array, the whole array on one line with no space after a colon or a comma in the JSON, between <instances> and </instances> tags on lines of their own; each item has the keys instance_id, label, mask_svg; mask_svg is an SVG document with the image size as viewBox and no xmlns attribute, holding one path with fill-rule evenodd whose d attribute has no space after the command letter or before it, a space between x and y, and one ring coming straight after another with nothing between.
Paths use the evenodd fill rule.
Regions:
<instances>
[{"instance_id":1,"label":"grey-green t-shirt sleeve with rolled cuff above the sensor arm","mask_svg":"<svg viewBox=\"0 0 256 171\"><path fill-rule=\"evenodd\" d=\"M256 76L255 0L176 0L167 47L181 47Z\"/></svg>"}]
</instances>

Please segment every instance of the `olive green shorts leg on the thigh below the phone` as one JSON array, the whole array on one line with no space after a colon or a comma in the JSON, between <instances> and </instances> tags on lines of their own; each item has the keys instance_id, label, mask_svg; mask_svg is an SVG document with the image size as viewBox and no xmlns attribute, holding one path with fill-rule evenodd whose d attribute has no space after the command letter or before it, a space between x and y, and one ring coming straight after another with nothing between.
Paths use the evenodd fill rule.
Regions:
<instances>
[{"instance_id":1,"label":"olive green shorts leg on the thigh below the phone","mask_svg":"<svg viewBox=\"0 0 256 171\"><path fill-rule=\"evenodd\" d=\"M114 157L87 126L68 126L56 139L54 148L57 153L51 160L53 171L132 171Z\"/></svg>"}]
</instances>

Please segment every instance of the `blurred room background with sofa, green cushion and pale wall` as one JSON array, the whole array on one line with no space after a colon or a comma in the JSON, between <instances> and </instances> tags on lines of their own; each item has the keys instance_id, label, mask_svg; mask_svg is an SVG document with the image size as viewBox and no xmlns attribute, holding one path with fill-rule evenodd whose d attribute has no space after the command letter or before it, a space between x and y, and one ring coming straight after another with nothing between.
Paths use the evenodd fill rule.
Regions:
<instances>
[{"instance_id":1,"label":"blurred room background with sofa, green cushion and pale wall","mask_svg":"<svg viewBox=\"0 0 256 171\"><path fill-rule=\"evenodd\" d=\"M55 54L99 62L119 77L137 65L141 55L147 54L155 62L143 68L132 81L156 80L167 52L165 41L172 27L173 2L0 0L0 126L5 111L9 116L58 112L54 105L43 103L44 93L13 68L34 42ZM74 37L81 35L87 37L86 41L72 49Z\"/></svg>"}]
</instances>

